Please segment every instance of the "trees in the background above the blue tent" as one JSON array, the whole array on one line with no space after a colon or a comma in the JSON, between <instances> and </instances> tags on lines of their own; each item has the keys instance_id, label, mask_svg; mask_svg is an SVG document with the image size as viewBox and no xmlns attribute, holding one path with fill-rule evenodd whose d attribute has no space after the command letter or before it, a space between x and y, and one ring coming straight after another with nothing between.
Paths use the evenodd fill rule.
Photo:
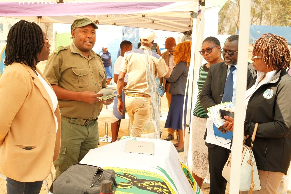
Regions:
<instances>
[{"instance_id":1,"label":"trees in the background above the blue tent","mask_svg":"<svg viewBox=\"0 0 291 194\"><path fill-rule=\"evenodd\" d=\"M228 0L219 12L218 34L239 29L240 0ZM252 25L291 26L291 0L251 0ZM243 14L243 13L242 13Z\"/></svg>"}]
</instances>

